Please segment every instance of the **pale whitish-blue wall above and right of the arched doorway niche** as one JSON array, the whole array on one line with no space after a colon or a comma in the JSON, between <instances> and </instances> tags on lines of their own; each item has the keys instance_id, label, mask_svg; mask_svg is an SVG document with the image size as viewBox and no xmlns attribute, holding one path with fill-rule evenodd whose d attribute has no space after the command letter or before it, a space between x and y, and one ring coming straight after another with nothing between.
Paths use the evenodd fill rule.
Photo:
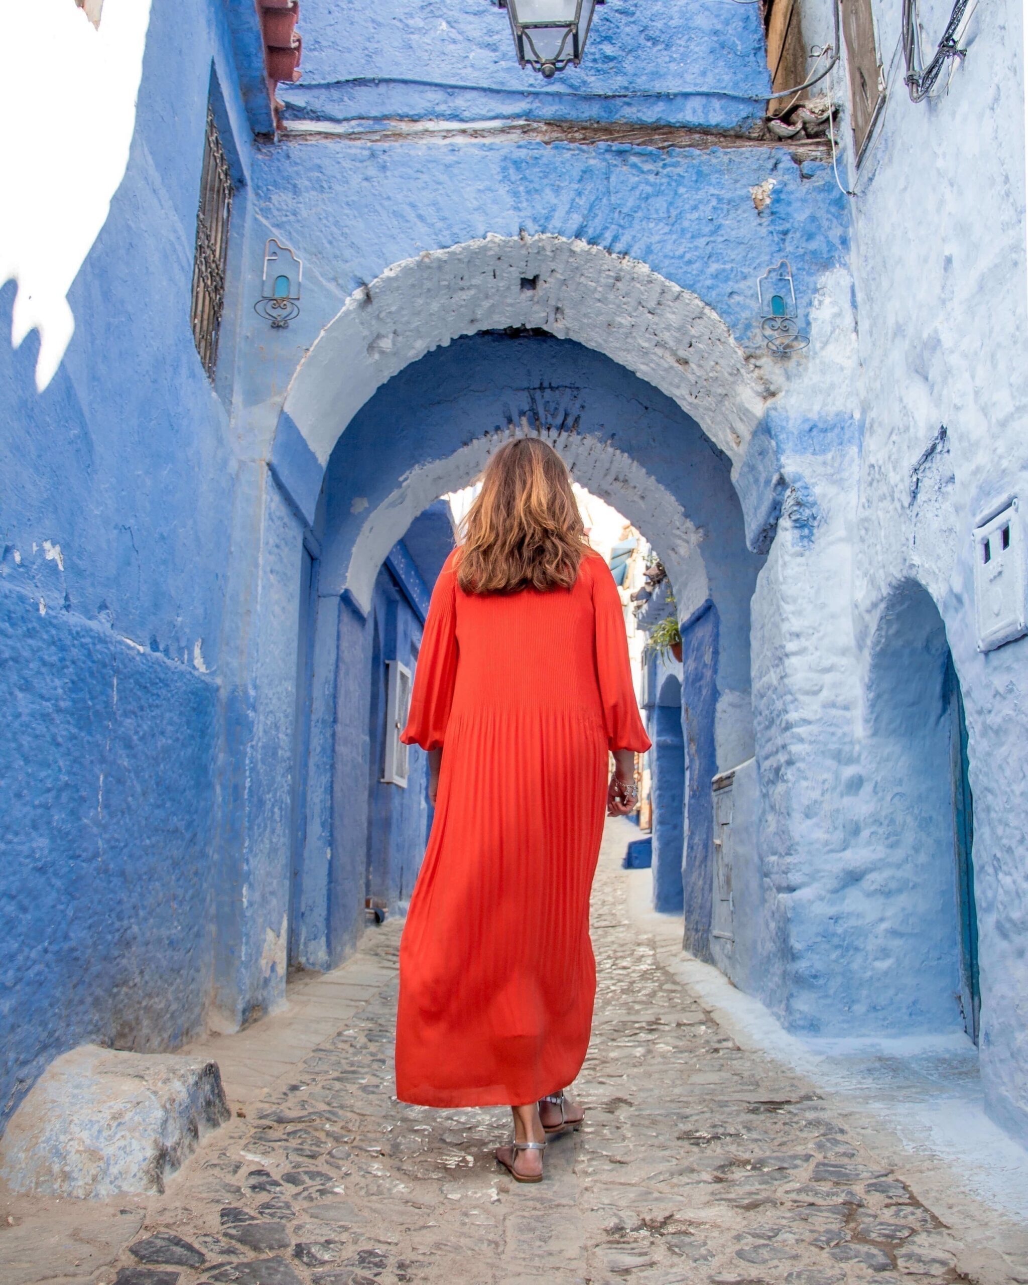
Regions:
<instances>
[{"instance_id":1,"label":"pale whitish-blue wall above and right of the arched doorway niche","mask_svg":"<svg viewBox=\"0 0 1028 1285\"><path fill-rule=\"evenodd\" d=\"M944 10L935 3L923 14L933 36ZM876 4L875 15L891 50L900 10ZM912 104L897 81L852 218L865 406L857 630L873 636L907 576L946 622L970 739L986 1099L1024 1140L1025 644L977 653L970 541L983 509L1028 493L1024 146L1011 127L1023 109L1022 21L1013 0L979 6L968 55L937 102ZM915 470L941 424L952 483L935 479L926 511Z\"/></svg>"}]
</instances>

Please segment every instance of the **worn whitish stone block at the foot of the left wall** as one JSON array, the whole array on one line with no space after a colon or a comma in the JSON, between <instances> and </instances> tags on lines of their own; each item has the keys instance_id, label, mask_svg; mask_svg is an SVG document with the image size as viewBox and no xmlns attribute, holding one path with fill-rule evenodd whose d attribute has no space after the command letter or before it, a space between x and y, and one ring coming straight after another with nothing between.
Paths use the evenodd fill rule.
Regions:
<instances>
[{"instance_id":1,"label":"worn whitish stone block at the foot of the left wall","mask_svg":"<svg viewBox=\"0 0 1028 1285\"><path fill-rule=\"evenodd\" d=\"M39 1195L159 1194L226 1119L217 1063L82 1045L50 1063L12 1117L0 1177Z\"/></svg>"}]
</instances>

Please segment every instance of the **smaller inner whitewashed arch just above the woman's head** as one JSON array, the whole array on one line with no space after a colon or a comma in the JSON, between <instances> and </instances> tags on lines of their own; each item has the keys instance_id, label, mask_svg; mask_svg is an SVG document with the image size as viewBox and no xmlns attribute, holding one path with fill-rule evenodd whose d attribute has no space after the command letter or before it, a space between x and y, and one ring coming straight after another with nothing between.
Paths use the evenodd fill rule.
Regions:
<instances>
[{"instance_id":1,"label":"smaller inner whitewashed arch just above the woman's head","mask_svg":"<svg viewBox=\"0 0 1028 1285\"><path fill-rule=\"evenodd\" d=\"M386 555L411 522L447 491L468 486L490 455L511 436L536 436L527 421L487 433L452 455L419 464L379 505L368 511L350 554L344 589L368 612ZM707 568L700 553L702 532L675 496L630 455L600 438L558 430L538 433L568 465L572 477L592 495L607 500L655 544L675 590L681 619L689 618L709 596Z\"/></svg>"}]
</instances>

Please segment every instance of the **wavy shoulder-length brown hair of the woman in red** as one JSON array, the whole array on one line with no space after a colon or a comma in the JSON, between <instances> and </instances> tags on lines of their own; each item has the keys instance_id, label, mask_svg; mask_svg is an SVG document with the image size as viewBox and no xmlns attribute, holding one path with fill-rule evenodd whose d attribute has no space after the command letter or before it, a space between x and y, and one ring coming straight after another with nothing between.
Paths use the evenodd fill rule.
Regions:
<instances>
[{"instance_id":1,"label":"wavy shoulder-length brown hair of the woman in red","mask_svg":"<svg viewBox=\"0 0 1028 1285\"><path fill-rule=\"evenodd\" d=\"M585 550L585 527L556 451L535 437L501 446L468 513L457 569L464 592L571 589Z\"/></svg>"}]
</instances>

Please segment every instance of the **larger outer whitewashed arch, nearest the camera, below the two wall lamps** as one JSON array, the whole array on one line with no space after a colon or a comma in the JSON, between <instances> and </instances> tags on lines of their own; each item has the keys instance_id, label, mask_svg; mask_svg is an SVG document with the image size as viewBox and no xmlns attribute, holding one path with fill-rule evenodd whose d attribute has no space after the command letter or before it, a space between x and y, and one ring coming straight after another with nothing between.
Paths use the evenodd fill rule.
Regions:
<instances>
[{"instance_id":1,"label":"larger outer whitewashed arch, nearest the camera, below the two wall lamps","mask_svg":"<svg viewBox=\"0 0 1028 1285\"><path fill-rule=\"evenodd\" d=\"M427 251L355 290L285 398L324 468L368 398L463 334L533 326L605 353L659 388L734 466L765 398L721 317L645 263L563 236L496 236Z\"/></svg>"}]
</instances>

